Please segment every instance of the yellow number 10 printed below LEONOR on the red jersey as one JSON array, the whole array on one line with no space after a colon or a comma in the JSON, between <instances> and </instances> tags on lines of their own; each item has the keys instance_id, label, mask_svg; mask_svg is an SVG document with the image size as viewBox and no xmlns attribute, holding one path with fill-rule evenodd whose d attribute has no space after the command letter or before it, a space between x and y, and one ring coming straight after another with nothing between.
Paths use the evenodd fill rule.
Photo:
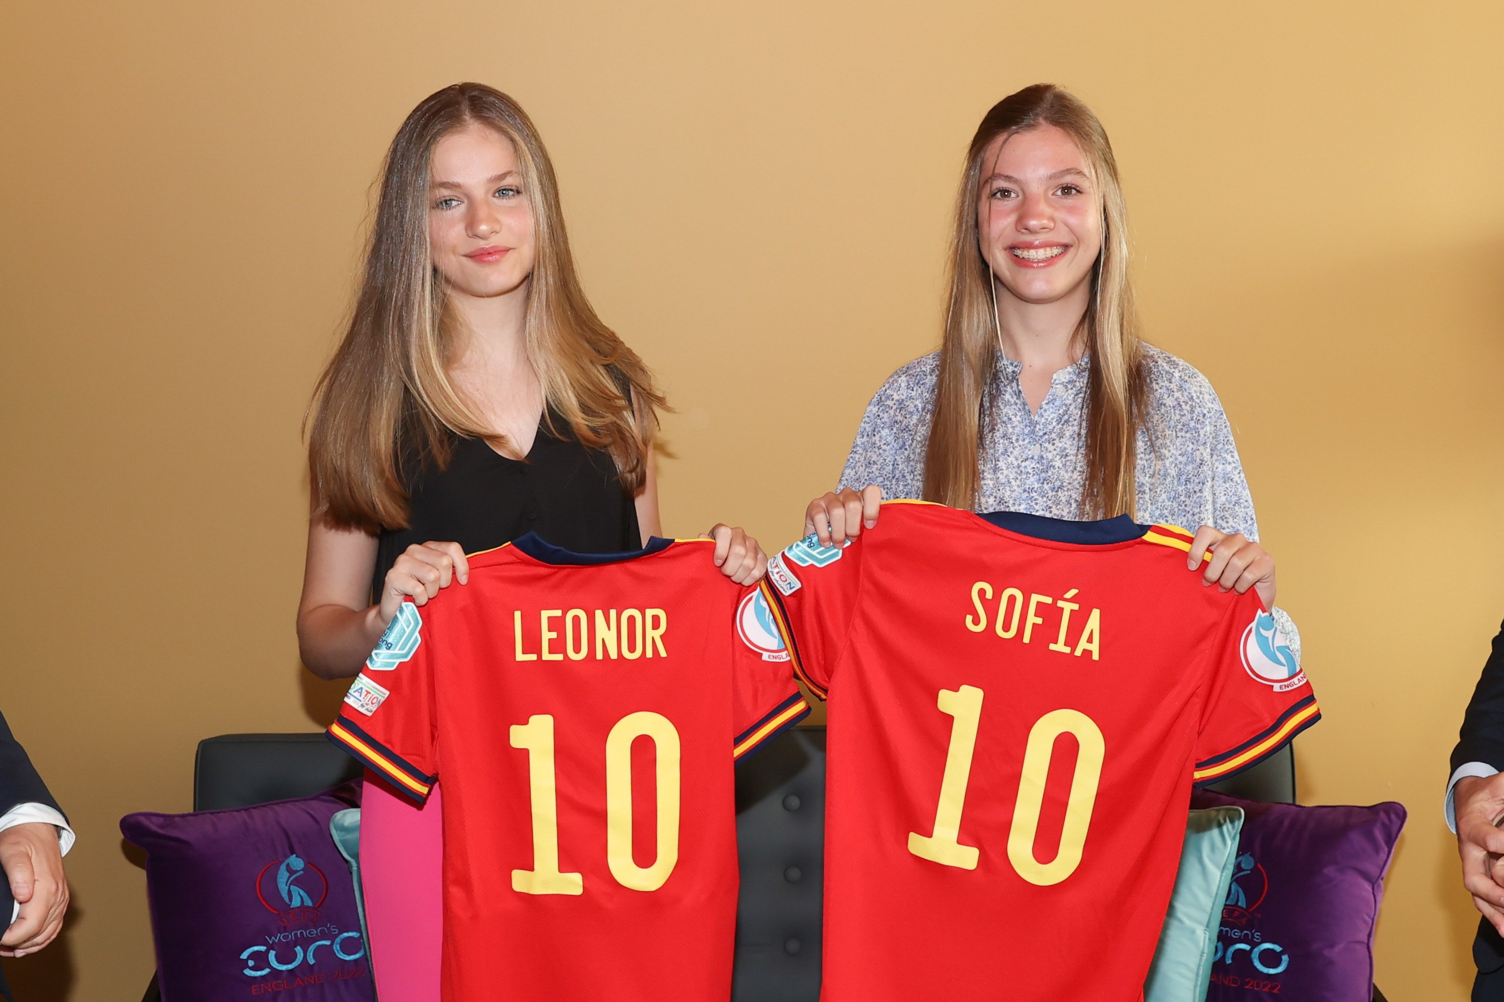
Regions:
<instances>
[{"instance_id":1,"label":"yellow number 10 printed below LEONOR on the red jersey","mask_svg":"<svg viewBox=\"0 0 1504 1002\"><path fill-rule=\"evenodd\" d=\"M657 856L651 867L632 858L632 742L651 738L657 750ZM520 894L584 894L585 879L559 871L559 811L553 766L553 717L538 714L511 726L511 747L528 753L532 799L532 868L511 871ZM606 736L606 864L633 891L657 891L678 864L680 744L660 714L627 714Z\"/></svg>"}]
</instances>

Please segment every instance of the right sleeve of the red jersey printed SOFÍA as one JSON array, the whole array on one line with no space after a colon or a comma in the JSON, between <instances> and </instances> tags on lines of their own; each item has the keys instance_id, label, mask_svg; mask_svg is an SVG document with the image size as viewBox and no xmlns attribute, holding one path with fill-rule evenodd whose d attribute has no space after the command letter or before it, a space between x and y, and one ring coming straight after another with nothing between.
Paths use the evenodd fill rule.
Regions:
<instances>
[{"instance_id":1,"label":"right sleeve of the red jersey printed SOF\u00cdA","mask_svg":"<svg viewBox=\"0 0 1504 1002\"><path fill-rule=\"evenodd\" d=\"M1247 769L1321 720L1284 632L1251 590L1218 626L1203 685L1197 786Z\"/></svg>"}]
</instances>

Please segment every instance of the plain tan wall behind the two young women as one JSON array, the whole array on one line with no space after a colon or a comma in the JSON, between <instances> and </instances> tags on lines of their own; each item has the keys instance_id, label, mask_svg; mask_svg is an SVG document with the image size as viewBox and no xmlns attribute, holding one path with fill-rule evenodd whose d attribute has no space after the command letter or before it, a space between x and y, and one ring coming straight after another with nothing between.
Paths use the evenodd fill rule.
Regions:
<instances>
[{"instance_id":1,"label":"plain tan wall behind the two young women","mask_svg":"<svg viewBox=\"0 0 1504 1002\"><path fill-rule=\"evenodd\" d=\"M66 934L8 966L23 997L137 999L117 819L186 810L200 738L338 699L292 631L299 419L418 99L481 80L531 111L587 287L678 409L666 527L772 548L935 341L978 119L1050 80L1116 143L1151 338L1232 416L1327 712L1302 798L1411 808L1379 981L1463 999L1439 793L1504 614L1504 8L735 6L11 11L0 700L80 832Z\"/></svg>"}]
</instances>

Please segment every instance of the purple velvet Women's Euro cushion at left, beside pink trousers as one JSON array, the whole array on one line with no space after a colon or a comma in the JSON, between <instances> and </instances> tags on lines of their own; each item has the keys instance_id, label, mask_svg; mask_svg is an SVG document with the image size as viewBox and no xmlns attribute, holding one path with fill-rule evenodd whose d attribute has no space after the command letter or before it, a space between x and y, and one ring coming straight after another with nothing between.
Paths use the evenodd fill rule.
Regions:
<instances>
[{"instance_id":1,"label":"purple velvet Women's Euro cushion at left, beside pink trousers","mask_svg":"<svg viewBox=\"0 0 1504 1002\"><path fill-rule=\"evenodd\" d=\"M329 837L359 784L229 811L126 814L146 850L162 1002L373 1002L350 870Z\"/></svg>"}]
</instances>

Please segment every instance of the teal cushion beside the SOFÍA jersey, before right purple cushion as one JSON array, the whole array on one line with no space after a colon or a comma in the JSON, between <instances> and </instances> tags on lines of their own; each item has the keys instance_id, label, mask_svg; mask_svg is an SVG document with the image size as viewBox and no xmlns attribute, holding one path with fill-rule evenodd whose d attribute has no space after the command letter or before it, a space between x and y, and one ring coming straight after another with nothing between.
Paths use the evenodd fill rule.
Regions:
<instances>
[{"instance_id":1,"label":"teal cushion beside the SOF\u00cdA jersey, before right purple cushion","mask_svg":"<svg viewBox=\"0 0 1504 1002\"><path fill-rule=\"evenodd\" d=\"M1212 954L1221 909L1238 858L1242 808L1191 811L1185 823L1181 870L1175 874L1170 910L1143 984L1145 1002L1203 1002L1211 984Z\"/></svg>"}]
</instances>

